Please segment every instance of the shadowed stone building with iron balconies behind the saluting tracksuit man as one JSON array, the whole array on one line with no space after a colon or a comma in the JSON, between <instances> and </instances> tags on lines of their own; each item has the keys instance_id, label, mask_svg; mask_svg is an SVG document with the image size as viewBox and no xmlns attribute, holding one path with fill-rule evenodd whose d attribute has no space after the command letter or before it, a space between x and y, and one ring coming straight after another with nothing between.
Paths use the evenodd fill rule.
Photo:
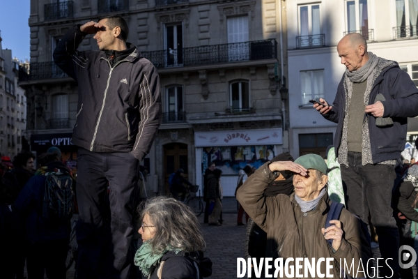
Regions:
<instances>
[{"instance_id":1,"label":"shadowed stone building with iron balconies behind the saluting tracksuit man","mask_svg":"<svg viewBox=\"0 0 418 279\"><path fill-rule=\"evenodd\" d=\"M128 41L157 68L162 125L146 157L148 193L167 193L167 179L183 168L203 185L215 160L225 195L238 169L258 166L288 150L281 94L280 2L187 0L31 0L31 64L20 85L28 97L31 149L63 149L76 160L70 137L77 114L77 84L52 61L59 39L74 24L114 13L130 27ZM79 50L98 50L86 36Z\"/></svg>"}]
</instances>

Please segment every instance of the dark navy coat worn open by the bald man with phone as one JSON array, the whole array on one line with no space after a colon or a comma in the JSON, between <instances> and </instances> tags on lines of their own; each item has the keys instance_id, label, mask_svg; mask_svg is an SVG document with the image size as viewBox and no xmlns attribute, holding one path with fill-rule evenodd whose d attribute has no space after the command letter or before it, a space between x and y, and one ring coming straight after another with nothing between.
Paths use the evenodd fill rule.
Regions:
<instances>
[{"instance_id":1,"label":"dark navy coat worn open by the bald man with phone","mask_svg":"<svg viewBox=\"0 0 418 279\"><path fill-rule=\"evenodd\" d=\"M343 134L343 120L346 115L346 91L344 77L339 83L332 110L323 116L332 122L338 123L335 132L335 153L338 157L339 146ZM408 73L396 66L389 66L382 70L376 78L371 89L369 105L375 103L378 93L385 96L382 101L385 107L383 117L391 117L392 126L376 126L376 118L371 114L364 114L369 119L370 147L373 164L395 160L401 156L405 149L405 135L408 126L408 117L418 115L418 89L412 82ZM330 104L331 105L331 104Z\"/></svg>"}]
</instances>

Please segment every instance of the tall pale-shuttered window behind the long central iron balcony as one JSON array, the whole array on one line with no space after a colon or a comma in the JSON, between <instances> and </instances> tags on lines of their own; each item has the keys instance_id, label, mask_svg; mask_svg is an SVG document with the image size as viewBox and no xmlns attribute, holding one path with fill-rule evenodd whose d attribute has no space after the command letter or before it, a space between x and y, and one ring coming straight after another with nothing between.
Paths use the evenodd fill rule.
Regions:
<instances>
[{"instance_id":1,"label":"tall pale-shuttered window behind the long central iron balcony","mask_svg":"<svg viewBox=\"0 0 418 279\"><path fill-rule=\"evenodd\" d=\"M247 45L238 43L248 42L248 16L229 17L228 26L228 43L234 44L228 46L229 61L249 60L249 50ZM236 44L235 44L236 43Z\"/></svg>"}]
</instances>

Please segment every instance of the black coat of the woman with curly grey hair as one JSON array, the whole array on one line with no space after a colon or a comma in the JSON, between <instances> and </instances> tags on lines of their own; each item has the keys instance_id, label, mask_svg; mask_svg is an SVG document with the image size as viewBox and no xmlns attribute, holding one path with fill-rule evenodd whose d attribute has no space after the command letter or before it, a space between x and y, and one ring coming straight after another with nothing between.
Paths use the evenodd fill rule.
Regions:
<instances>
[{"instance_id":1,"label":"black coat of the woman with curly grey hair","mask_svg":"<svg viewBox=\"0 0 418 279\"><path fill-rule=\"evenodd\" d=\"M212 262L210 259L204 258L202 252L200 254L197 252L189 254L180 251L176 254L173 251L169 251L162 256L160 264L163 261L162 279L198 279L198 273L199 279L212 275ZM160 268L160 264L157 264L151 271L150 279L159 279L157 271ZM196 269L196 266L199 271Z\"/></svg>"}]
</instances>

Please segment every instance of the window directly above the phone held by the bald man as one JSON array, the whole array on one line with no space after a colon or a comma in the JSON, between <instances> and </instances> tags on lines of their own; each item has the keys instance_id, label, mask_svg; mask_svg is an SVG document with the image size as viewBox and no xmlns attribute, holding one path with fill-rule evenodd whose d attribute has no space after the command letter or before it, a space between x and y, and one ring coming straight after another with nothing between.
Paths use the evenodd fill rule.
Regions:
<instances>
[{"instance_id":1,"label":"window directly above the phone held by the bald man","mask_svg":"<svg viewBox=\"0 0 418 279\"><path fill-rule=\"evenodd\" d=\"M302 70L300 72L302 105L309 105L309 100L324 98L324 70Z\"/></svg>"}]
</instances>

